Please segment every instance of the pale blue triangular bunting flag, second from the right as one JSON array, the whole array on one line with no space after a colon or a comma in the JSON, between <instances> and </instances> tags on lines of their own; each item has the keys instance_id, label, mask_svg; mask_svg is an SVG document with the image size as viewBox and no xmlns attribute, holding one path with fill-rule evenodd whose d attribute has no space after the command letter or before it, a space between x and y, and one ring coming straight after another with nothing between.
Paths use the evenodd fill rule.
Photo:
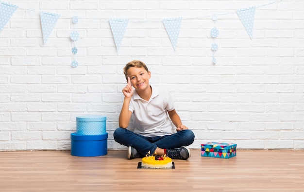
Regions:
<instances>
[{"instance_id":1,"label":"pale blue triangular bunting flag, second from the right","mask_svg":"<svg viewBox=\"0 0 304 192\"><path fill-rule=\"evenodd\" d=\"M170 38L171 44L175 50L181 23L182 23L182 17L165 18L163 19L163 23L166 28L167 34Z\"/></svg>"}]
</instances>

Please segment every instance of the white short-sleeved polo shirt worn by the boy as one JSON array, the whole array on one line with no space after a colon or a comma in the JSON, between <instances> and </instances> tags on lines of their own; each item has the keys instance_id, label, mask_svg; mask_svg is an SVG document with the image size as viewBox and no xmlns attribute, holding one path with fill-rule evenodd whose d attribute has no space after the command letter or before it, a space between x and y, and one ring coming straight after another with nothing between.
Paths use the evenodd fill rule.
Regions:
<instances>
[{"instance_id":1,"label":"white short-sleeved polo shirt worn by the boy","mask_svg":"<svg viewBox=\"0 0 304 192\"><path fill-rule=\"evenodd\" d=\"M134 133L147 137L173 134L175 126L167 113L167 110L172 111L173 109L174 101L167 90L152 87L149 101L142 99L134 91L129 105L129 110L134 114Z\"/></svg>"}]
</instances>

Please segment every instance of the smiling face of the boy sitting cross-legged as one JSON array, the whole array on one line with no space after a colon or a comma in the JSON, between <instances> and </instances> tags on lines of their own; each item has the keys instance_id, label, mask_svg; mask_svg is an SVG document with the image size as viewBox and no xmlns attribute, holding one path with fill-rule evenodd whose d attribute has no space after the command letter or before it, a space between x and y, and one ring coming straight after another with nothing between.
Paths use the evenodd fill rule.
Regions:
<instances>
[{"instance_id":1,"label":"smiling face of the boy sitting cross-legged","mask_svg":"<svg viewBox=\"0 0 304 192\"><path fill-rule=\"evenodd\" d=\"M146 71L144 68L131 67L127 71L128 77L130 77L131 85L136 90L145 90L150 88L149 79L151 78L151 72Z\"/></svg>"}]
</instances>

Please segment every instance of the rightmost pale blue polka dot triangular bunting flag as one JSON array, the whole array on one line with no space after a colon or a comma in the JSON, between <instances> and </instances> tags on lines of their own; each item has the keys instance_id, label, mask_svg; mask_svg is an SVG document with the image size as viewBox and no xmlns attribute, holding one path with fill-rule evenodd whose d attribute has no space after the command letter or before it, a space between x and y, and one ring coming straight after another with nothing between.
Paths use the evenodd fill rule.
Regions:
<instances>
[{"instance_id":1,"label":"rightmost pale blue polka dot triangular bunting flag","mask_svg":"<svg viewBox=\"0 0 304 192\"><path fill-rule=\"evenodd\" d=\"M255 7L236 10L236 14L243 23L245 30L247 31L251 39L253 36L254 12L255 12Z\"/></svg>"}]
</instances>

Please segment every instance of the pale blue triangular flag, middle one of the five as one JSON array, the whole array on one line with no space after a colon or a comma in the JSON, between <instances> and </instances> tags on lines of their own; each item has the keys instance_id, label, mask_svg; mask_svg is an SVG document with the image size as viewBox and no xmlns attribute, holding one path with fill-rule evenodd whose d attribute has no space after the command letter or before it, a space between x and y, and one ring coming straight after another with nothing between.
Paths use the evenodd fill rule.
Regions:
<instances>
[{"instance_id":1,"label":"pale blue triangular flag, middle one of the five","mask_svg":"<svg viewBox=\"0 0 304 192\"><path fill-rule=\"evenodd\" d=\"M121 40L126 31L129 19L109 19L112 34L116 44L117 51L119 50Z\"/></svg>"}]
</instances>

